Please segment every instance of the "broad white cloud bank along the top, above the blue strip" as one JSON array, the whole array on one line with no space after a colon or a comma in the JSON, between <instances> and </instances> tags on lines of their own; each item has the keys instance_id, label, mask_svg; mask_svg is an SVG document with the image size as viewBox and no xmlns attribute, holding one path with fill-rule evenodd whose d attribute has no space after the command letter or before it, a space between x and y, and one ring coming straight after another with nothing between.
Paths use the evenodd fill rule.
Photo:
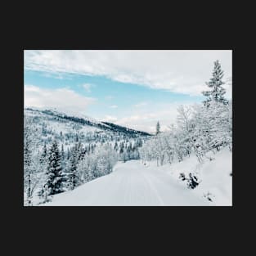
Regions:
<instances>
[{"instance_id":1,"label":"broad white cloud bank along the top, above the blue strip","mask_svg":"<svg viewBox=\"0 0 256 256\"><path fill-rule=\"evenodd\" d=\"M49 73L104 75L122 83L137 83L189 95L200 95L221 62L225 77L232 74L231 50L25 51L25 69ZM227 85L230 90L231 85Z\"/></svg>"}]
</instances>

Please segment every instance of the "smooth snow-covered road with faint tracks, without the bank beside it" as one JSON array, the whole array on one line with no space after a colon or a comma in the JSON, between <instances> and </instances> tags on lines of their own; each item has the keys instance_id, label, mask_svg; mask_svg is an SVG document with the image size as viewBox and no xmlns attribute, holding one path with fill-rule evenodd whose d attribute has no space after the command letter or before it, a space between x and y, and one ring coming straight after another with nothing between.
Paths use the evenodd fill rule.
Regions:
<instances>
[{"instance_id":1,"label":"smooth snow-covered road with faint tracks, without the bank beside it","mask_svg":"<svg viewBox=\"0 0 256 256\"><path fill-rule=\"evenodd\" d=\"M43 205L209 205L193 192L168 173L132 160Z\"/></svg>"}]
</instances>

